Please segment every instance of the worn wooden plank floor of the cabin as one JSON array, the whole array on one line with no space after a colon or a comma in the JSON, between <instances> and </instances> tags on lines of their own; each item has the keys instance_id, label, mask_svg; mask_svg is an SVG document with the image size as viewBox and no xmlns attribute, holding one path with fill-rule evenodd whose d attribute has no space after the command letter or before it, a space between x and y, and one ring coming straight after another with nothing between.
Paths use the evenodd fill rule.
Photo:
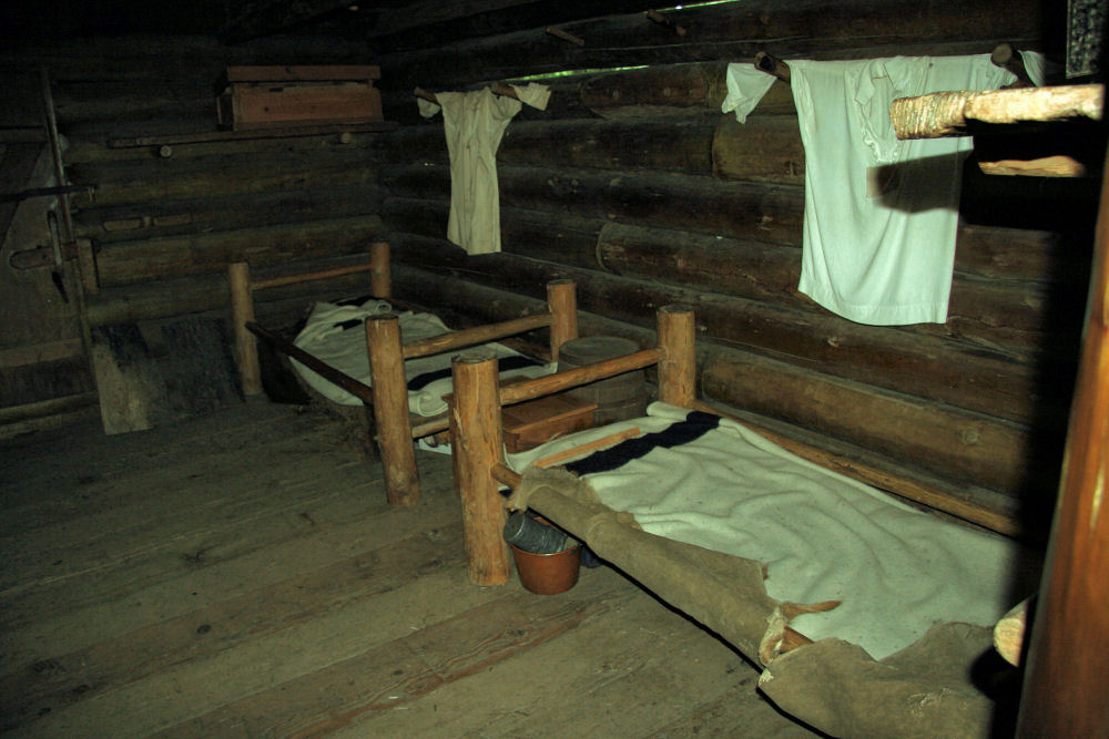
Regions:
<instances>
[{"instance_id":1,"label":"worn wooden plank floor of the cabin","mask_svg":"<svg viewBox=\"0 0 1109 739\"><path fill-rule=\"evenodd\" d=\"M808 736L608 567L467 578L450 458L385 505L352 425L251 401L0 442L4 737ZM54 564L58 562L58 564ZM542 679L537 679L537 676Z\"/></svg>"}]
</instances>

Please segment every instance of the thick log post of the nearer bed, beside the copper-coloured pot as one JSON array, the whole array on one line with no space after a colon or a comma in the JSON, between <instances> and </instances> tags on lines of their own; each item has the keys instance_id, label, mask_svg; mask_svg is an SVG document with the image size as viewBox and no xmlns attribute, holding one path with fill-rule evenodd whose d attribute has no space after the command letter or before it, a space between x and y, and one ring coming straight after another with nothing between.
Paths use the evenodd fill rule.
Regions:
<instances>
[{"instance_id":1,"label":"thick log post of the nearer bed, beside the copper-coloured pot","mask_svg":"<svg viewBox=\"0 0 1109 739\"><path fill-rule=\"evenodd\" d=\"M450 407L451 456L455 485L462 499L462 532L470 582L508 582L505 505L492 468L502 462L500 390L497 358L491 352L455 357L451 362L455 397Z\"/></svg>"}]
</instances>

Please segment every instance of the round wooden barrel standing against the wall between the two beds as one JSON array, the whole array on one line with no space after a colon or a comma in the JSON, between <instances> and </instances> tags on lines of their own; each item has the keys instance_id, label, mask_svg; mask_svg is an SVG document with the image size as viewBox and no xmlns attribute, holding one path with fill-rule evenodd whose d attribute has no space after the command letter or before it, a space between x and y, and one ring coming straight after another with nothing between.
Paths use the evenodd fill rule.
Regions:
<instances>
[{"instance_id":1,"label":"round wooden barrel standing against the wall between the two beds","mask_svg":"<svg viewBox=\"0 0 1109 739\"><path fill-rule=\"evenodd\" d=\"M622 357L639 351L638 343L615 336L589 336L571 339L559 348L559 370ZM647 414L647 380L643 370L633 370L599 380L570 391L591 403L598 425L639 418Z\"/></svg>"}]
</instances>

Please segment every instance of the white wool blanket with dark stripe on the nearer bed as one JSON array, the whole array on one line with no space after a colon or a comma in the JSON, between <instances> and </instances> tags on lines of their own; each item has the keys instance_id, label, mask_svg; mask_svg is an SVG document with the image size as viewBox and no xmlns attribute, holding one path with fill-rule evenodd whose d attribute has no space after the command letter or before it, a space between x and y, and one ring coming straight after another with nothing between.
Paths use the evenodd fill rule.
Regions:
<instances>
[{"instance_id":1,"label":"white wool blanket with dark stripe on the nearer bed","mask_svg":"<svg viewBox=\"0 0 1109 739\"><path fill-rule=\"evenodd\" d=\"M681 408L653 403L648 413L510 455L509 464L522 472L541 456L631 427L704 430L681 423ZM802 634L846 639L882 659L935 622L991 626L1029 594L1027 582L1035 587L1039 563L1014 542L903 505L737 423L714 423L675 449L654 447L609 472L577 472L650 533L765 563L774 598L843 602L797 617ZM634 449L637 440L624 443ZM588 460L602 461L604 451Z\"/></svg>"}]
</instances>

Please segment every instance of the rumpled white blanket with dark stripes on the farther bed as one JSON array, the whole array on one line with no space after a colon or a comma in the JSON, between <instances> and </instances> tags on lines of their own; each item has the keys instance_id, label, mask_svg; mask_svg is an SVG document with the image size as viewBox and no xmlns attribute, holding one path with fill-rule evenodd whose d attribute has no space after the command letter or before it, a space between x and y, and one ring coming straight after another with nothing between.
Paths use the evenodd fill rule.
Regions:
<instances>
[{"instance_id":1,"label":"rumpled white blanket with dark stripes on the farther bed","mask_svg":"<svg viewBox=\"0 0 1109 739\"><path fill-rule=\"evenodd\" d=\"M391 306L384 300L368 299L360 304L317 302L304 329L294 343L321 361L370 384L369 351L366 347L366 319L389 312ZM434 314L406 311L399 314L401 341L417 341L450 331ZM550 374L557 368L553 363L529 362L518 351L499 343L484 345L496 352L503 369L501 377L539 377ZM476 349L476 347L474 348ZM467 349L466 351L471 351ZM457 352L455 352L457 353ZM450 358L454 353L419 357L405 362L405 379L408 381L408 409L418 415L438 415L446 412L442 397L449 394L454 384L450 379ZM343 406L362 403L356 397L325 380L295 359L293 367L313 389L328 400ZM527 363L527 366L523 366Z\"/></svg>"}]
</instances>

